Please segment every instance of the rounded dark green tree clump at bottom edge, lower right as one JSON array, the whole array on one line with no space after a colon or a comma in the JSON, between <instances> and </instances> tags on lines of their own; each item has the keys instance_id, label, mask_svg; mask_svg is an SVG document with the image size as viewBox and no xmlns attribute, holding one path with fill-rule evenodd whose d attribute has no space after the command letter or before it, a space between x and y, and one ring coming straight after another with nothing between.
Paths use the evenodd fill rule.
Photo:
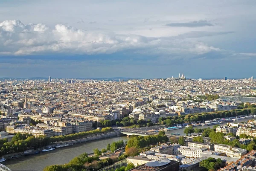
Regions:
<instances>
[{"instance_id":1,"label":"rounded dark green tree clump at bottom edge, lower right","mask_svg":"<svg viewBox=\"0 0 256 171\"><path fill-rule=\"evenodd\" d=\"M220 158L215 159L209 157L200 162L199 166L202 168L203 171L216 171L219 168L222 168L226 165L225 161L221 160Z\"/></svg>"}]
</instances>

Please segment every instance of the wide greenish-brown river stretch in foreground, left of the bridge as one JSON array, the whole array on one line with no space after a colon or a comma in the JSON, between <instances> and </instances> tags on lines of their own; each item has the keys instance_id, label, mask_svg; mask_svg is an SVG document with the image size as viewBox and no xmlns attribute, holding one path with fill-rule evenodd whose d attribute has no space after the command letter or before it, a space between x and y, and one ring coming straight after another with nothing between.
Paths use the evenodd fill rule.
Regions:
<instances>
[{"instance_id":1,"label":"wide greenish-brown river stretch in foreground, left of the bridge","mask_svg":"<svg viewBox=\"0 0 256 171\"><path fill-rule=\"evenodd\" d=\"M47 165L61 165L70 162L71 159L83 153L93 153L93 149L107 148L108 143L118 140L128 141L126 136L117 136L108 139L100 139L99 141L85 142L75 144L70 147L64 147L48 151L40 154L35 154L19 159L6 160L3 165L6 165L12 171L43 171Z\"/></svg>"}]
</instances>

